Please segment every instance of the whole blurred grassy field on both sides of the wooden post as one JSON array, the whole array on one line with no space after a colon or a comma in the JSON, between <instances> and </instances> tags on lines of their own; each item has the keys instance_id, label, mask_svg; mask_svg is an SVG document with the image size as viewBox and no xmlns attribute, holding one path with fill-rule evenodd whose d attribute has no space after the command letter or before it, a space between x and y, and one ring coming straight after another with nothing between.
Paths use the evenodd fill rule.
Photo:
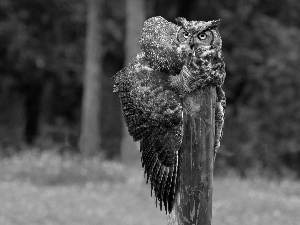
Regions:
<instances>
[{"instance_id":1,"label":"whole blurred grassy field on both sides of the wooden post","mask_svg":"<svg viewBox=\"0 0 300 225\"><path fill-rule=\"evenodd\" d=\"M97 158L24 153L0 161L0 224L157 225L140 167ZM297 225L300 183L214 180L213 225Z\"/></svg>"}]
</instances>

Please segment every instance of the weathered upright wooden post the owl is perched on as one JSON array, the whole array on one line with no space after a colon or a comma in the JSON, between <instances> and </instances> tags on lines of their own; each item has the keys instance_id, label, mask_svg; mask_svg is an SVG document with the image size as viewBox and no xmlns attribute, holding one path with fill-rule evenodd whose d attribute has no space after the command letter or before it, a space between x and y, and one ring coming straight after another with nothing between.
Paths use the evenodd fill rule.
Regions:
<instances>
[{"instance_id":1,"label":"weathered upright wooden post the owl is perched on","mask_svg":"<svg viewBox=\"0 0 300 225\"><path fill-rule=\"evenodd\" d=\"M179 187L168 225L211 225L215 105L214 87L183 99Z\"/></svg>"}]
</instances>

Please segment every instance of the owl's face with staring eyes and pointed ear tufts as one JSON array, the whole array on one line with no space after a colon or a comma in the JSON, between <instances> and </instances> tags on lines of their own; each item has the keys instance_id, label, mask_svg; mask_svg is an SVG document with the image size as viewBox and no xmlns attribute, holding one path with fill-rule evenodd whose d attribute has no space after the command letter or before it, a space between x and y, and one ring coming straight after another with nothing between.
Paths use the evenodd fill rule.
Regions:
<instances>
[{"instance_id":1,"label":"owl's face with staring eyes and pointed ear tufts","mask_svg":"<svg viewBox=\"0 0 300 225\"><path fill-rule=\"evenodd\" d=\"M187 21L183 17L176 18L180 28L177 39L182 45L188 44L196 56L208 53L219 53L222 39L218 30L220 20Z\"/></svg>"}]
</instances>

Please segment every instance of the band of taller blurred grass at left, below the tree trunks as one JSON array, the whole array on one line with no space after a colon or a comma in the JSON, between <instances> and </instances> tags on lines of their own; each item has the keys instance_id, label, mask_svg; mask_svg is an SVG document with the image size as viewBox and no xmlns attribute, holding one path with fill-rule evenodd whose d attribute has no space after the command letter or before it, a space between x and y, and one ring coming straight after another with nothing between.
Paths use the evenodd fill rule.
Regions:
<instances>
[{"instance_id":1,"label":"band of taller blurred grass at left, below the tree trunks","mask_svg":"<svg viewBox=\"0 0 300 225\"><path fill-rule=\"evenodd\" d=\"M99 158L61 156L55 152L25 152L0 162L0 180L34 185L84 185L87 182L122 182L124 167Z\"/></svg>"}]
</instances>

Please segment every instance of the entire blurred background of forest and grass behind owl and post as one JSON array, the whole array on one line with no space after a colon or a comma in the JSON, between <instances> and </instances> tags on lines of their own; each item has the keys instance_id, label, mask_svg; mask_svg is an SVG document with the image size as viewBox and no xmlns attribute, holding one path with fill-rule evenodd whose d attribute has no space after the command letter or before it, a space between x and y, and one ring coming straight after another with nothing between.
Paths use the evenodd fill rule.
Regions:
<instances>
[{"instance_id":1,"label":"entire blurred background of forest and grass behind owl and post","mask_svg":"<svg viewBox=\"0 0 300 225\"><path fill-rule=\"evenodd\" d=\"M278 201L288 201L286 196L300 194L298 0L1 0L0 198L6 206L0 210L1 224L118 224L104 219L111 217L112 211L105 214L103 208L97 208L110 188L116 192L137 188L133 190L140 194L128 194L124 204L143 204L149 212L159 213L148 199L149 190L144 191L144 181L131 179L140 177L142 171L138 145L128 136L118 96L112 92L112 76L140 51L143 22L158 15L171 22L178 16L188 20L222 19L227 111L215 167L215 224L294 225L300 221L294 211L289 214L285 211L288 208L276 208L280 207ZM138 169L128 164L137 164ZM232 174L234 178L225 178ZM254 177L263 179L253 183ZM284 183L286 179L288 183ZM19 182L24 185L21 192ZM251 208L256 211L246 208L245 214L240 212L235 217L233 209L235 213L222 211L231 200L222 199L228 192L222 193L218 184L229 189L233 185L233 190L244 187L248 194L254 193L251 198L276 188L285 195L278 200L278 193L274 194L274 204L266 212L270 218L257 205ZM120 185L125 187L120 189ZM74 201L87 201L86 207L91 208L75 209L79 210L78 218L65 221L63 215L74 215L64 210L68 204L77 203L59 203L62 197L49 194L49 187L72 195ZM69 191L70 187L75 189ZM96 197L81 196L82 188ZM28 216L22 204L18 208L23 212L20 218L12 214L20 199L16 193L21 195L23 191L33 199L34 193L40 193L39 204L44 208L30 205L32 199L23 196L25 209L40 209L36 214L40 217ZM78 196L81 200L76 200ZM116 196L110 197L115 201ZM45 206L44 198L54 206ZM88 198L99 198L99 202ZM241 194L241 210L245 202L249 203L243 198ZM261 200L263 204L265 199ZM298 200L292 204L299 211ZM89 211L96 205L103 217ZM55 211L55 207L63 210ZM57 216L62 212L65 214ZM298 219L278 220L284 213ZM91 214L99 219L91 220ZM22 223L23 217L30 220ZM124 218L124 224L130 225L162 220L159 216L156 223L152 219Z\"/></svg>"}]
</instances>

